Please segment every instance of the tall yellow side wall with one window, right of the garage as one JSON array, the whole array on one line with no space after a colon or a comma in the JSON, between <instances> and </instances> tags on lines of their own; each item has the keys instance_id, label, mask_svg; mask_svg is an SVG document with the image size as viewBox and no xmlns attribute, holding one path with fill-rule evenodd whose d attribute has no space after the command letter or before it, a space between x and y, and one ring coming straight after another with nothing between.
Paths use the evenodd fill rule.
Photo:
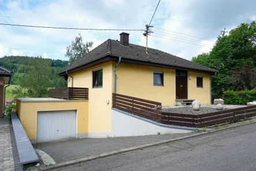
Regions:
<instances>
[{"instance_id":1,"label":"tall yellow side wall with one window, right of the garage","mask_svg":"<svg viewBox=\"0 0 256 171\"><path fill-rule=\"evenodd\" d=\"M71 73L73 87L89 88L88 132L111 132L111 107L113 90L113 62L106 62L79 72ZM103 68L102 88L92 88L92 70ZM71 87L71 77L68 87ZM106 103L109 99L109 103Z\"/></svg>"}]
</instances>

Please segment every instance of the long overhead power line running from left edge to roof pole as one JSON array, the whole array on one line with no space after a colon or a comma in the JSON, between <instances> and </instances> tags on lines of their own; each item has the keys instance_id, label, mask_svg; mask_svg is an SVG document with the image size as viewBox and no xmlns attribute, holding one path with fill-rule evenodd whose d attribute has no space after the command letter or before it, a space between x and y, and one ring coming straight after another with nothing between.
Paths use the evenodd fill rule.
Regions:
<instances>
[{"instance_id":1,"label":"long overhead power line running from left edge to roof pole","mask_svg":"<svg viewBox=\"0 0 256 171\"><path fill-rule=\"evenodd\" d=\"M19 24L4 24L0 25L11 25L18 27L35 27L35 28L55 28L55 29L80 29L80 30L102 30L102 31L144 31L144 29L99 29L99 28L68 28L68 27L46 27L46 26L36 26L36 25L19 25Z\"/></svg>"}]
</instances>

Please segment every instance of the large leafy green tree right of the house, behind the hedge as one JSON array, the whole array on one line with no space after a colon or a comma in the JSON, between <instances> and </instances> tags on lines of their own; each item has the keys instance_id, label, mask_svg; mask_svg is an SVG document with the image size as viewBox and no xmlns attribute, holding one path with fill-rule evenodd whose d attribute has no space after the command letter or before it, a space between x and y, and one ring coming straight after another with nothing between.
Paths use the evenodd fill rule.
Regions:
<instances>
[{"instance_id":1,"label":"large leafy green tree right of the house, behind the hedge","mask_svg":"<svg viewBox=\"0 0 256 171\"><path fill-rule=\"evenodd\" d=\"M255 86L256 22L242 23L226 33L225 29L221 31L212 51L192 58L219 71L212 78L213 98L222 98L227 90L250 90Z\"/></svg>"}]
</instances>

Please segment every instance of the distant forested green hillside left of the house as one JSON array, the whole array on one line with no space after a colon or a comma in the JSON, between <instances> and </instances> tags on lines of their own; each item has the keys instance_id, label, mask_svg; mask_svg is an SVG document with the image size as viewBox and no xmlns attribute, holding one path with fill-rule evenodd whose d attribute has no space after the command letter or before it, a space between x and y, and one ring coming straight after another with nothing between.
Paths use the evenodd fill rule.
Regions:
<instances>
[{"instance_id":1,"label":"distant forested green hillside left of the house","mask_svg":"<svg viewBox=\"0 0 256 171\"><path fill-rule=\"evenodd\" d=\"M53 84L55 84L57 73L68 66L68 61L44 59L42 57L5 56L0 58L0 66L14 73L11 84L20 85L25 73L31 70L36 60L50 64L50 72L52 75L50 76L51 85L49 86L55 87Z\"/></svg>"}]
</instances>

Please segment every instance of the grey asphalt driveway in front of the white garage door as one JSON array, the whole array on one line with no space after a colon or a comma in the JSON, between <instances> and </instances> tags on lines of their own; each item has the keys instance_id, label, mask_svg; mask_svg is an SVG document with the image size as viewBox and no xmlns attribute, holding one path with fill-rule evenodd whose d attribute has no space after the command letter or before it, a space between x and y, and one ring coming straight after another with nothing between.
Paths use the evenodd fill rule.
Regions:
<instances>
[{"instance_id":1,"label":"grey asphalt driveway in front of the white garage door","mask_svg":"<svg viewBox=\"0 0 256 171\"><path fill-rule=\"evenodd\" d=\"M56 163L59 163L71 161L72 159L108 153L122 148L140 146L161 140L191 135L193 133L194 132L133 137L83 138L64 140L60 142L38 143L33 146L34 148L43 150L45 153L50 155Z\"/></svg>"}]
</instances>

